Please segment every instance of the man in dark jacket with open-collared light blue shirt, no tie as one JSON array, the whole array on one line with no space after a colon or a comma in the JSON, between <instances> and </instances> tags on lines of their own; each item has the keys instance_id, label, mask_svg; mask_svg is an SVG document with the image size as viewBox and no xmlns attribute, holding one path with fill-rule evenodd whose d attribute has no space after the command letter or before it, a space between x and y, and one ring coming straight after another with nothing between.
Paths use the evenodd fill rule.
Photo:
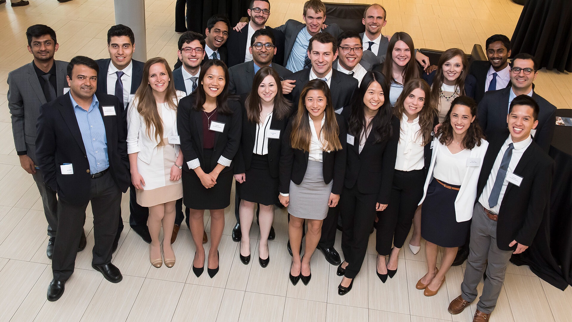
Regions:
<instances>
[{"instance_id":1,"label":"man in dark jacket with open-collared light blue shirt, no tie","mask_svg":"<svg viewBox=\"0 0 572 322\"><path fill-rule=\"evenodd\" d=\"M52 260L53 280L47 299L57 301L74 271L77 246L92 203L92 267L110 282L120 282L111 264L113 239L121 219L121 193L129 187L129 159L123 103L99 93L97 63L77 56L67 65L70 91L42 105L36 139L39 167L46 186L58 194L58 238Z\"/></svg>"}]
</instances>

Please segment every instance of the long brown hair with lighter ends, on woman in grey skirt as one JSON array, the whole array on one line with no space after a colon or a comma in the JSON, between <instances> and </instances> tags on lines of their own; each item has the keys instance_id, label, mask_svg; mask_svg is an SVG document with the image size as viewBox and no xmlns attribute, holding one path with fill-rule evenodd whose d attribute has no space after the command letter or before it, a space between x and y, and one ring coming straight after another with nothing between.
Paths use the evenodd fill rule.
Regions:
<instances>
[{"instance_id":1,"label":"long brown hair with lighter ends, on woman in grey skirt","mask_svg":"<svg viewBox=\"0 0 572 322\"><path fill-rule=\"evenodd\" d=\"M300 93L300 101L298 102L298 111L292 120L292 133L290 135L290 145L292 148L310 151L310 142L312 140L312 129L310 128L310 123L308 121L308 109L306 109L306 95L312 89L317 89L324 93L326 105L325 105L325 122L321 129L320 136L324 138L323 143L324 151L338 151L341 150L340 139L338 138L340 134L340 128L337 126L336 112L333 111L332 107L332 96L330 95L328 84L323 80L315 79L309 81L302 92Z\"/></svg>"}]
</instances>

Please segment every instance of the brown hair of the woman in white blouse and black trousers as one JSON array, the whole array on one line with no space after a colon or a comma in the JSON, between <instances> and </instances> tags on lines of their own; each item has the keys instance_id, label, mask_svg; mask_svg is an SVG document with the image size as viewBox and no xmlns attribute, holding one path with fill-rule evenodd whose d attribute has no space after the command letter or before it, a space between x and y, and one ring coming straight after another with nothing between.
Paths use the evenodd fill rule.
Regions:
<instances>
[{"instance_id":1,"label":"brown hair of the woman in white blouse and black trousers","mask_svg":"<svg viewBox=\"0 0 572 322\"><path fill-rule=\"evenodd\" d=\"M437 109L435 105L431 103L432 94L430 93L429 84L421 78L413 78L412 80L405 83L403 91L399 95L397 101L395 102L394 115L401 121L403 113L405 113L405 107L403 103L408 95L414 91L414 89L419 88L425 93L425 100L423 101L423 108L419 111L419 135L423 138L423 145L431 142L431 132L433 131L433 123L435 117L437 116Z\"/></svg>"}]
</instances>

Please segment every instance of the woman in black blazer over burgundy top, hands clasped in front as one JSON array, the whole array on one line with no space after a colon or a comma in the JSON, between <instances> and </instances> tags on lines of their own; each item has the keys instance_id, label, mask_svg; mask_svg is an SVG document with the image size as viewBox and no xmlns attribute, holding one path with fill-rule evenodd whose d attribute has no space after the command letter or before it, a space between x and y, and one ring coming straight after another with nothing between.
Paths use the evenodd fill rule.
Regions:
<instances>
[{"instance_id":1,"label":"woman in black blazer over burgundy top, hands clasped in front","mask_svg":"<svg viewBox=\"0 0 572 322\"><path fill-rule=\"evenodd\" d=\"M208 273L219 272L219 247L224 229L224 209L231 200L232 159L239 150L240 103L228 99L228 69L223 61L208 60L199 76L201 86L181 99L177 128L184 156L183 202L189 207L190 232L197 252L193 272L204 270L203 214L210 210ZM202 264L202 265L201 265Z\"/></svg>"}]
</instances>

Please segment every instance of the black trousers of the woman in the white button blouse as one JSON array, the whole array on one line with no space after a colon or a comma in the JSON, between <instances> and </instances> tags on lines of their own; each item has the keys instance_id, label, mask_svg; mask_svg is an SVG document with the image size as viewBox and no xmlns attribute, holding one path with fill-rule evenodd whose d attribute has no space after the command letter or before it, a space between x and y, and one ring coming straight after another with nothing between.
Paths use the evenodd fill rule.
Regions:
<instances>
[{"instance_id":1,"label":"black trousers of the woman in the white button blouse","mask_svg":"<svg viewBox=\"0 0 572 322\"><path fill-rule=\"evenodd\" d=\"M390 203L378 214L375 250L382 256L391 253L391 245L402 248L411 230L417 205L423 197L423 170L395 170Z\"/></svg>"}]
</instances>

